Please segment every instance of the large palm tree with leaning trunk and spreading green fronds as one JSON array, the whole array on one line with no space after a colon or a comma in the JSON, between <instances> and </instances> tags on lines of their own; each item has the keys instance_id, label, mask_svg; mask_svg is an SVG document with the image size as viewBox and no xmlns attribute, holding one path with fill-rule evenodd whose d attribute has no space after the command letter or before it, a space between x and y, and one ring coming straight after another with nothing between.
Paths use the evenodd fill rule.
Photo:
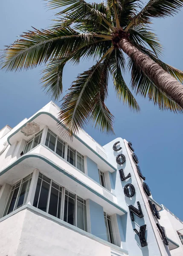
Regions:
<instances>
[{"instance_id":1,"label":"large palm tree with leaning trunk and spreading green fronds","mask_svg":"<svg viewBox=\"0 0 183 256\"><path fill-rule=\"evenodd\" d=\"M3 50L3 70L28 70L45 64L43 87L57 100L62 93L62 73L67 62L93 59L95 65L79 74L62 99L59 119L69 134L89 121L113 132L113 115L105 105L112 76L117 97L134 111L139 105L123 74L131 71L131 89L148 97L161 110L183 113L183 72L160 60L162 46L150 25L153 18L176 14L183 0L49 0L56 14L50 29L26 32ZM124 55L124 53L126 55Z\"/></svg>"}]
</instances>

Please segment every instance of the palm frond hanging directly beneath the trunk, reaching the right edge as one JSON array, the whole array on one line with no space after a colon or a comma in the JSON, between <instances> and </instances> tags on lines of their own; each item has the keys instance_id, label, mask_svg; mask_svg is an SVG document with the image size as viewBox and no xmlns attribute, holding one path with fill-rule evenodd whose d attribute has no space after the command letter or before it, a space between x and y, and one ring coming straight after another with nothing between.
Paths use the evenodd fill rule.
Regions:
<instances>
[{"instance_id":1,"label":"palm frond hanging directly beneath the trunk, reaching the right edge","mask_svg":"<svg viewBox=\"0 0 183 256\"><path fill-rule=\"evenodd\" d=\"M154 102L160 110L169 110L174 113L183 113L183 108L180 107L170 96L164 93L154 84L151 79L146 76L143 71L137 67L134 61L128 59L128 68L131 70L131 87L137 95Z\"/></svg>"}]
</instances>

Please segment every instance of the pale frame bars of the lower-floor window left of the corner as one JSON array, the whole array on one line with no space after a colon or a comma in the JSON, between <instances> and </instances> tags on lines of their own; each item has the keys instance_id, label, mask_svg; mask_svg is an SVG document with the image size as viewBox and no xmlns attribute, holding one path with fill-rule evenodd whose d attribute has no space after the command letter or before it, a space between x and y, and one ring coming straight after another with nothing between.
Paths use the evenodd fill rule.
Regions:
<instances>
[{"instance_id":1,"label":"pale frame bars of the lower-floor window left of the corner","mask_svg":"<svg viewBox=\"0 0 183 256\"><path fill-rule=\"evenodd\" d=\"M10 214L10 213L12 213L12 212L14 212L16 209L18 209L18 208L22 207L24 204L26 204L26 200L27 200L27 197L28 197L28 194L29 194L28 188L30 189L30 184L31 184L31 181L32 181L32 175L33 175L33 173L31 173L31 174L29 174L29 175L26 175L26 177L29 176L29 178L27 179L27 180L28 180L28 186L27 186L27 188L26 188L25 196L24 196L24 198L23 198L23 204L20 205L19 207L17 207L17 203L18 203L18 200L19 200L19 198L20 198L20 192L21 192L21 189L22 189L22 184L27 181L27 180L23 181L26 177L24 177L24 178L22 178L21 180L17 181L14 185L12 185L12 186L10 187L8 196L7 196L7 198L6 198L6 203L5 203L5 206L4 206L4 209L3 209L3 212L2 212L1 217L4 217L4 216L6 216L6 215L8 215L8 214ZM13 209L12 209L11 212L7 213L8 210L9 210L10 204L11 204L11 202L12 202L12 197L13 197L13 194L12 194L12 197L11 197L11 199L10 199L11 192L12 192L13 190L15 191L16 185L17 185L18 183L20 183L20 185L19 185L19 188L18 188L17 197L16 197L16 200L15 200L14 207L13 207ZM14 186L15 186L15 189L12 189ZM27 193L28 193L28 194L27 194ZM9 199L10 199L10 201L9 201ZM9 205L8 205L8 203L9 203Z\"/></svg>"}]
</instances>

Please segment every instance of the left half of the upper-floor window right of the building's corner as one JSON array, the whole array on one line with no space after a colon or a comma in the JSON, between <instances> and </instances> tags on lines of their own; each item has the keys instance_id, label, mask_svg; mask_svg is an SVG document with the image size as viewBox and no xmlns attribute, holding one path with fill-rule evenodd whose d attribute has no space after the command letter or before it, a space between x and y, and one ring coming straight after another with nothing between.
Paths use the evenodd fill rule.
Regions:
<instances>
[{"instance_id":1,"label":"left half of the upper-floor window right of the building's corner","mask_svg":"<svg viewBox=\"0 0 183 256\"><path fill-rule=\"evenodd\" d=\"M56 134L48 130L45 145L61 157L65 157L65 143Z\"/></svg>"}]
</instances>

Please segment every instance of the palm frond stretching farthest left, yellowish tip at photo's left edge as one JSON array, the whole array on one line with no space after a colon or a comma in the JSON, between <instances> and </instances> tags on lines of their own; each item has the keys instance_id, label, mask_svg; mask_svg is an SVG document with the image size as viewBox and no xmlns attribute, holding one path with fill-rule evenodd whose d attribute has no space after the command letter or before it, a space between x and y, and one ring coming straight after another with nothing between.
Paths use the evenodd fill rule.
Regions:
<instances>
[{"instance_id":1,"label":"palm frond stretching farthest left, yellowish tip at photo's left edge","mask_svg":"<svg viewBox=\"0 0 183 256\"><path fill-rule=\"evenodd\" d=\"M3 50L0 66L7 71L34 68L51 58L75 50L84 41L93 41L89 33L78 34L71 28L35 30Z\"/></svg>"}]
</instances>

